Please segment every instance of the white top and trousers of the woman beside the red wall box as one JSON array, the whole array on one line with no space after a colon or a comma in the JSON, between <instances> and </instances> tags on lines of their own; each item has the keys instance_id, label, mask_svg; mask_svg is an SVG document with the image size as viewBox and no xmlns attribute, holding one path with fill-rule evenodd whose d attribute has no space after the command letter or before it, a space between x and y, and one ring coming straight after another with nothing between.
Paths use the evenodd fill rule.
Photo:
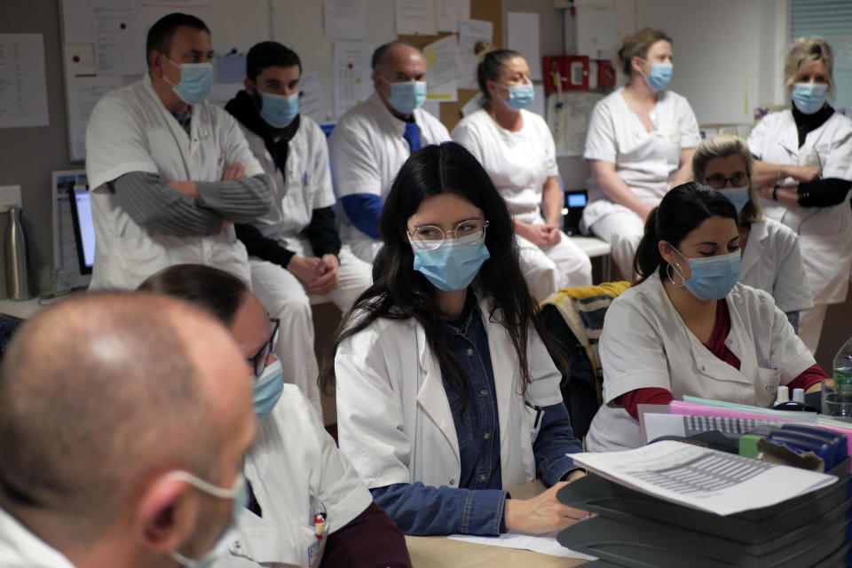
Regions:
<instances>
[{"instance_id":1,"label":"white top and trousers of the woman beside the red wall box","mask_svg":"<svg viewBox=\"0 0 852 568\"><path fill-rule=\"evenodd\" d=\"M690 103L672 91L658 93L649 118L649 132L627 106L620 88L599 100L588 122L585 160L615 164L615 172L640 200L659 205L677 177L681 150L701 141ZM594 179L589 180L588 205L581 228L610 243L612 259L622 278L633 274L633 257L644 233L644 221L626 207L609 201Z\"/></svg>"}]
</instances>

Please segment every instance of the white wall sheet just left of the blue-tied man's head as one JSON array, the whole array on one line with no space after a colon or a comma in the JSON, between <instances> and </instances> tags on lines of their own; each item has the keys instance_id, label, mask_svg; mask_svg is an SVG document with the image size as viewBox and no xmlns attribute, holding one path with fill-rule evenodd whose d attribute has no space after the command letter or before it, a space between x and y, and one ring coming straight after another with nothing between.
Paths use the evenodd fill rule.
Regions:
<instances>
[{"instance_id":1,"label":"white wall sheet just left of the blue-tied man's head","mask_svg":"<svg viewBox=\"0 0 852 568\"><path fill-rule=\"evenodd\" d=\"M375 46L365 42L335 42L335 117L343 116L373 92L370 58Z\"/></svg>"}]
</instances>

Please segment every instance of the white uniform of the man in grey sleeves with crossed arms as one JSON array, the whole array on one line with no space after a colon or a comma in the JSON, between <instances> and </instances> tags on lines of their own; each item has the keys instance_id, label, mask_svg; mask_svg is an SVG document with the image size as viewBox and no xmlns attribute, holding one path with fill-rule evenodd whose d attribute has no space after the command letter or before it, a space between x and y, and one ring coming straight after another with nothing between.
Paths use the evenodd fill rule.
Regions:
<instances>
[{"instance_id":1,"label":"white uniform of the man in grey sleeves with crossed arms","mask_svg":"<svg viewBox=\"0 0 852 568\"><path fill-rule=\"evenodd\" d=\"M100 99L86 127L86 174L95 225L91 288L136 288L173 264L207 264L249 282L246 248L233 226L210 236L151 234L137 225L106 188L132 171L158 174L165 183L222 178L241 162L246 177L264 170L231 114L204 102L193 105L190 135L154 92L148 75Z\"/></svg>"}]
</instances>

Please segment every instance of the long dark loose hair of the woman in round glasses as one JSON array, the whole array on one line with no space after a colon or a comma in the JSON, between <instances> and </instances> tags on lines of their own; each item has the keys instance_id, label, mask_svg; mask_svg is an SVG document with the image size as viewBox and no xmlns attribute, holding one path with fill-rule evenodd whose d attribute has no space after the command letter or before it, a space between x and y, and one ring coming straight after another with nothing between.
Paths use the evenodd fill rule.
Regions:
<instances>
[{"instance_id":1,"label":"long dark loose hair of the woman in round glasses","mask_svg":"<svg viewBox=\"0 0 852 568\"><path fill-rule=\"evenodd\" d=\"M379 318L414 318L422 325L441 367L452 376L461 399L467 399L467 377L458 360L438 340L441 318L436 288L422 273L414 271L414 252L406 235L408 218L423 201L442 193L454 193L470 201L482 209L488 221L485 246L491 258L479 269L473 286L493 302L488 318L499 321L509 333L517 352L523 391L532 380L526 350L530 325L551 356L567 369L564 356L540 322L539 306L526 286L506 203L477 159L463 146L445 142L440 146L424 146L411 154L393 181L382 210L380 229L384 246L373 264L375 283L343 318L335 344L323 363L319 383L327 394L335 384L334 356L343 340Z\"/></svg>"}]
</instances>

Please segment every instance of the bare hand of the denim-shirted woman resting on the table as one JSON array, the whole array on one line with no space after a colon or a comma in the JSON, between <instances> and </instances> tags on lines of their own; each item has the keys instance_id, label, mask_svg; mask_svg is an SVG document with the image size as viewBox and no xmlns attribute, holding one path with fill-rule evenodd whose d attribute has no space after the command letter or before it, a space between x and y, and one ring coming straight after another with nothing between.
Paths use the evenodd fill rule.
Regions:
<instances>
[{"instance_id":1,"label":"bare hand of the denim-shirted woman resting on the table","mask_svg":"<svg viewBox=\"0 0 852 568\"><path fill-rule=\"evenodd\" d=\"M513 533L552 533L587 518L586 511L556 499L556 493L568 483L559 482L533 499L506 500L506 528Z\"/></svg>"}]
</instances>

